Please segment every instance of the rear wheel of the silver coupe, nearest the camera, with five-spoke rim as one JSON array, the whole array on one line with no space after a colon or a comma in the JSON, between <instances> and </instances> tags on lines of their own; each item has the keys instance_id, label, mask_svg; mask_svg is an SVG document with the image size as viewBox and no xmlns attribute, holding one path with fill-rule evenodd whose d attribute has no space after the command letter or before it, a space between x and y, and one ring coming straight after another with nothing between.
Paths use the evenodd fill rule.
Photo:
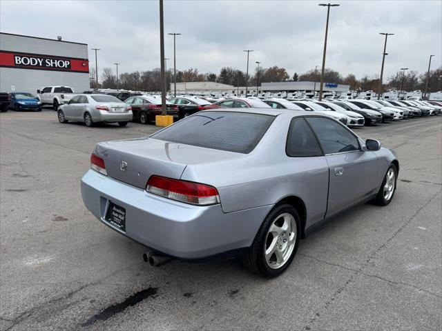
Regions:
<instances>
[{"instance_id":1,"label":"rear wheel of the silver coupe, nearest the camera, with five-spoke rim","mask_svg":"<svg viewBox=\"0 0 442 331\"><path fill-rule=\"evenodd\" d=\"M254 274L277 277L289 268L299 240L298 212L292 205L277 205L265 218L242 262Z\"/></svg>"}]
</instances>

